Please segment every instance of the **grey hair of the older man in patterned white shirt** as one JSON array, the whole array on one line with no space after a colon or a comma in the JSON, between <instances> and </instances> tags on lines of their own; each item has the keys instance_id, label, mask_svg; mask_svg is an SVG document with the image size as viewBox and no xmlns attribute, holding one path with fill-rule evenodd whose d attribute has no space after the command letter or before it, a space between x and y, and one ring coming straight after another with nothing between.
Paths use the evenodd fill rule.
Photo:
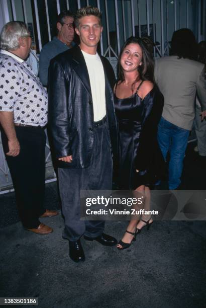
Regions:
<instances>
[{"instance_id":1,"label":"grey hair of the older man in patterned white shirt","mask_svg":"<svg viewBox=\"0 0 206 308\"><path fill-rule=\"evenodd\" d=\"M29 36L29 30L25 23L21 21L7 23L1 32L1 49L12 50L20 47L20 37Z\"/></svg>"}]
</instances>

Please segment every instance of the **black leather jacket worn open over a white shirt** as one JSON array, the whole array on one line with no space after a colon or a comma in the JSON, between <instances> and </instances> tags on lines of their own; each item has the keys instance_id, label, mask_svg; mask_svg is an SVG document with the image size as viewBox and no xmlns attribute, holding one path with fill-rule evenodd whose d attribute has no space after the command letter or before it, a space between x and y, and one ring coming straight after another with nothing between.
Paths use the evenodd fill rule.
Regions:
<instances>
[{"instance_id":1,"label":"black leather jacket worn open over a white shirt","mask_svg":"<svg viewBox=\"0 0 206 308\"><path fill-rule=\"evenodd\" d=\"M114 158L118 151L113 88L115 74L100 56L105 71L106 110ZM49 67L49 127L56 158L72 155L72 163L58 161L60 168L87 168L93 146L93 106L89 75L79 46L52 59Z\"/></svg>"}]
</instances>

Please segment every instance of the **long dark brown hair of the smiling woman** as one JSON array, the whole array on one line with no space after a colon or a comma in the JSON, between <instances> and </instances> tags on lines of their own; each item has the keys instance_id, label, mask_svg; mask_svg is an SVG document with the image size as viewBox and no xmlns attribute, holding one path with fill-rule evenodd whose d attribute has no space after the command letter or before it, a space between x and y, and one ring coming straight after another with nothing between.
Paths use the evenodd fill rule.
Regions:
<instances>
[{"instance_id":1,"label":"long dark brown hair of the smiling woman","mask_svg":"<svg viewBox=\"0 0 206 308\"><path fill-rule=\"evenodd\" d=\"M127 41L124 43L122 46L122 49L120 51L119 59L118 59L118 81L125 81L125 76L124 76L124 70L121 65L121 57L123 54L124 49L129 45L129 44L138 44L141 49L142 49L142 65L139 65L137 70L139 72L139 78L135 81L135 83L140 79L140 80L148 80L152 82L153 84L155 83L154 81L154 61L153 58L150 54L150 52L147 49L146 44L141 38L135 38L133 36L129 37Z\"/></svg>"}]
</instances>

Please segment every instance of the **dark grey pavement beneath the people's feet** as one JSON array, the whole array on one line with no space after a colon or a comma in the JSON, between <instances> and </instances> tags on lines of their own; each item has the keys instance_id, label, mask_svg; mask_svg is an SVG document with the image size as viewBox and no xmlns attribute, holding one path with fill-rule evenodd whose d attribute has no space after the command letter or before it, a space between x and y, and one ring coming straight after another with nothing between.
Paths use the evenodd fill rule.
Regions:
<instances>
[{"instance_id":1,"label":"dark grey pavement beneath the people's feet","mask_svg":"<svg viewBox=\"0 0 206 308\"><path fill-rule=\"evenodd\" d=\"M205 190L205 166L189 144L183 189ZM22 228L14 193L0 196L0 297L39 297L41 308L206 306L204 221L156 221L124 251L82 240L86 261L69 259L62 239L64 221L42 218L54 228L47 236ZM60 209L56 183L46 186L45 207ZM126 221L107 222L120 239Z\"/></svg>"}]
</instances>

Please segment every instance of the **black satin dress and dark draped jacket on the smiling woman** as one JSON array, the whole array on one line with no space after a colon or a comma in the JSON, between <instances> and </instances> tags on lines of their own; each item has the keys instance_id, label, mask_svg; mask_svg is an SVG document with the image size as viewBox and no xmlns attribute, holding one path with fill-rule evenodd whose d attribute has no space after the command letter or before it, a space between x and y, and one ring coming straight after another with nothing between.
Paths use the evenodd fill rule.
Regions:
<instances>
[{"instance_id":1,"label":"black satin dress and dark draped jacket on the smiling woman","mask_svg":"<svg viewBox=\"0 0 206 308\"><path fill-rule=\"evenodd\" d=\"M164 98L154 86L142 100L138 96L141 84L133 96L125 99L116 96L115 88L120 143L117 184L124 190L155 184L165 165L157 142Z\"/></svg>"}]
</instances>

